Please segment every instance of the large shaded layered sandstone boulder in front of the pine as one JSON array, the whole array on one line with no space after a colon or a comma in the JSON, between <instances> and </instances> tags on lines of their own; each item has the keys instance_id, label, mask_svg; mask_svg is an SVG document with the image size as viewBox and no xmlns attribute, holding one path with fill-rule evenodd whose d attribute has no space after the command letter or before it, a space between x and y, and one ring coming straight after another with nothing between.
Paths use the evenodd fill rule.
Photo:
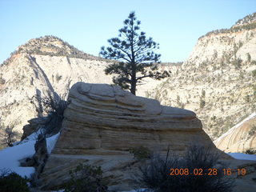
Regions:
<instances>
[{"instance_id":1,"label":"large shaded layered sandstone boulder in front of the pine","mask_svg":"<svg viewBox=\"0 0 256 192\"><path fill-rule=\"evenodd\" d=\"M62 133L41 175L42 189L61 185L70 169L89 162L102 166L110 189L130 190L136 163L129 149L139 146L156 153L165 153L170 146L182 155L198 143L221 153L194 112L161 106L157 100L134 96L119 86L77 82L68 102Z\"/></svg>"}]
</instances>

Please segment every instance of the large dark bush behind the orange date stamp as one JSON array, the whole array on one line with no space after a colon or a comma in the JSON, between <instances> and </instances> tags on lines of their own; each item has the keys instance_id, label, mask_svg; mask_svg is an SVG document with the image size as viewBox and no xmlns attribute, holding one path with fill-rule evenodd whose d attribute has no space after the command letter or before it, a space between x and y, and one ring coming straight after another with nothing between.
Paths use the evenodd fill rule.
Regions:
<instances>
[{"instance_id":1,"label":"large dark bush behind the orange date stamp","mask_svg":"<svg viewBox=\"0 0 256 192\"><path fill-rule=\"evenodd\" d=\"M168 150L165 158L157 155L150 159L149 164L139 167L139 173L135 174L134 182L136 187L146 187L146 191L154 192L232 191L233 180L223 178L224 166L216 166L217 162L218 154L211 154L209 147L190 146L183 158L170 155ZM170 175L173 173L172 169L188 169L189 172L187 175ZM202 175L199 175L200 169L203 171ZM199 171L194 172L194 170ZM214 175L212 172L212 175L208 175L210 170L214 170L217 174Z\"/></svg>"}]
</instances>

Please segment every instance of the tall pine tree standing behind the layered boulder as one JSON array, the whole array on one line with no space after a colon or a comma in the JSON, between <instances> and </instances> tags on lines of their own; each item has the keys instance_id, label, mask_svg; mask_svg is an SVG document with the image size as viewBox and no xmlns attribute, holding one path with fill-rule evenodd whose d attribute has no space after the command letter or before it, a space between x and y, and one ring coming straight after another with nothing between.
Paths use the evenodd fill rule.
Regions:
<instances>
[{"instance_id":1,"label":"tall pine tree standing behind the layered boulder","mask_svg":"<svg viewBox=\"0 0 256 192\"><path fill-rule=\"evenodd\" d=\"M109 47L102 46L100 55L103 58L114 59L114 62L105 69L106 74L118 74L113 78L116 85L122 89L129 89L132 94L136 92L136 86L142 82L142 78L161 79L169 77L165 70L158 71L157 62L161 54L155 54L158 43L153 38L146 38L145 32L139 32L141 22L131 12L124 21L124 26L119 30L118 38L110 38Z\"/></svg>"}]
</instances>

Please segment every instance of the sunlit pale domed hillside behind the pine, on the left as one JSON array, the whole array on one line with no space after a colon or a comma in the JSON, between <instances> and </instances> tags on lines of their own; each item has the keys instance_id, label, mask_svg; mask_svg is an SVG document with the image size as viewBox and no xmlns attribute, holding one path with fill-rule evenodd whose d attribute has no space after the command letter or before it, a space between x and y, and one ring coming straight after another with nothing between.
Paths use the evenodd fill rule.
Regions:
<instances>
[{"instance_id":1,"label":"sunlit pale domed hillside behind the pine, on the left","mask_svg":"<svg viewBox=\"0 0 256 192\"><path fill-rule=\"evenodd\" d=\"M104 73L111 62L85 54L54 36L31 39L0 65L1 123L22 131L30 118L41 116L31 103L40 105L35 95L42 98L47 91L64 95L75 82L112 83L112 76ZM145 90L158 83L146 79L138 95L144 96Z\"/></svg>"}]
</instances>

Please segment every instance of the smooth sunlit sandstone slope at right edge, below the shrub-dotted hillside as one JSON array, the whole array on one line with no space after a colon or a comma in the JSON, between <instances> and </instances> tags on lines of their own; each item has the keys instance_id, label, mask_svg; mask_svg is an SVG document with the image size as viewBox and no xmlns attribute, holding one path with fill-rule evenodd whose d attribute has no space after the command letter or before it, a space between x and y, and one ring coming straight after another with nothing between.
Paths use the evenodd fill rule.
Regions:
<instances>
[{"instance_id":1,"label":"smooth sunlit sandstone slope at right edge, below the shrub-dotted hillside","mask_svg":"<svg viewBox=\"0 0 256 192\"><path fill-rule=\"evenodd\" d=\"M225 152L245 152L256 150L256 113L251 114L238 125L231 128L214 141L220 150Z\"/></svg>"}]
</instances>

